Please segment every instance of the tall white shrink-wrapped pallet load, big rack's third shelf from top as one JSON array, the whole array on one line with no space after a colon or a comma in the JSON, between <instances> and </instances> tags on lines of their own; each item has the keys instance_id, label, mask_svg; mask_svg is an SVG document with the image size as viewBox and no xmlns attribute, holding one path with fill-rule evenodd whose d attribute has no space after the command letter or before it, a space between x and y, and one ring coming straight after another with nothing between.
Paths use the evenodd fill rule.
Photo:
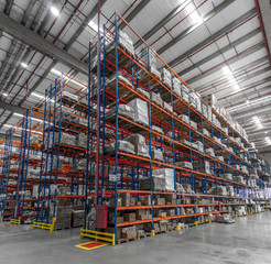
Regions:
<instances>
[{"instance_id":1,"label":"tall white shrink-wrapped pallet load, big rack's third shelf from top","mask_svg":"<svg viewBox=\"0 0 271 264\"><path fill-rule=\"evenodd\" d=\"M136 98L128 106L134 111L133 120L136 122L149 125L148 105L145 101Z\"/></svg>"}]
</instances>

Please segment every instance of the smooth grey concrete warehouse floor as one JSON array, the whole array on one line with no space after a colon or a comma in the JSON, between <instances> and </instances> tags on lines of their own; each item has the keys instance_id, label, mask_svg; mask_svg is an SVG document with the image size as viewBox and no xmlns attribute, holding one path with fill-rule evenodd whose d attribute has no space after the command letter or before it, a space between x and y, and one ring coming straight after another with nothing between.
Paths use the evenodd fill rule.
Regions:
<instances>
[{"instance_id":1,"label":"smooth grey concrete warehouse floor","mask_svg":"<svg viewBox=\"0 0 271 264\"><path fill-rule=\"evenodd\" d=\"M271 212L173 231L117 246L85 251L74 245L79 229L50 233L26 227L0 227L0 263L271 263Z\"/></svg>"}]
</instances>

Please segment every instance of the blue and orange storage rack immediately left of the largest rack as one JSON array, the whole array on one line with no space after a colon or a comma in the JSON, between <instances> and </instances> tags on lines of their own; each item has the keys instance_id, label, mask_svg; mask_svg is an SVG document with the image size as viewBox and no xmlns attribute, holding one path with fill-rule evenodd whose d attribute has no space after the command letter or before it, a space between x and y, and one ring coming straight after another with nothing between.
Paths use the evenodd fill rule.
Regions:
<instances>
[{"instance_id":1,"label":"blue and orange storage rack immediately left of the largest rack","mask_svg":"<svg viewBox=\"0 0 271 264\"><path fill-rule=\"evenodd\" d=\"M72 86L68 80L83 89ZM35 189L36 228L53 224L52 230L58 230L83 226L87 132L90 128L85 89L87 85L62 76L46 90L42 140L44 163Z\"/></svg>"}]
</instances>

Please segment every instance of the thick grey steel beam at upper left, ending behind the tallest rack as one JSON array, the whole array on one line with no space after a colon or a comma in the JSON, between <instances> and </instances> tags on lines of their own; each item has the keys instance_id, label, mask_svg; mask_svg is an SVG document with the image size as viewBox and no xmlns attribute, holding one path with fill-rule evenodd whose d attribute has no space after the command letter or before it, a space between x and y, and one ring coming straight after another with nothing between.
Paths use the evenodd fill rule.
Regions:
<instances>
[{"instance_id":1,"label":"thick grey steel beam at upper left, ending behind the tallest rack","mask_svg":"<svg viewBox=\"0 0 271 264\"><path fill-rule=\"evenodd\" d=\"M8 15L1 12L0 12L0 28L4 32L24 42L25 44L30 45L34 50L41 52L42 54L45 54L51 58L55 58L59 61L62 64L71 68L77 69L78 72L85 75L88 74L86 64L84 64L73 55L55 46L50 41L44 40L42 36L37 35L33 31L15 22L14 20L10 19Z\"/></svg>"}]
</instances>

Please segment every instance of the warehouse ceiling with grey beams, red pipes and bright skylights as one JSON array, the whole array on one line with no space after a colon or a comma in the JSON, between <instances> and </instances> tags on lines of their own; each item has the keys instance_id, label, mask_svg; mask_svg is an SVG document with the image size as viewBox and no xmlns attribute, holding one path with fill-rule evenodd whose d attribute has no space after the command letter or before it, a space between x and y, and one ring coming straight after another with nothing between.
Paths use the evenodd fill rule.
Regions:
<instances>
[{"instance_id":1,"label":"warehouse ceiling with grey beams, red pipes and bright skylights","mask_svg":"<svg viewBox=\"0 0 271 264\"><path fill-rule=\"evenodd\" d=\"M100 0L100 7L101 23L118 10L195 91L215 94L260 152L271 151L270 1ZM28 108L42 103L62 72L87 82L97 10L95 0L0 0L2 133L20 122L25 97Z\"/></svg>"}]
</instances>

